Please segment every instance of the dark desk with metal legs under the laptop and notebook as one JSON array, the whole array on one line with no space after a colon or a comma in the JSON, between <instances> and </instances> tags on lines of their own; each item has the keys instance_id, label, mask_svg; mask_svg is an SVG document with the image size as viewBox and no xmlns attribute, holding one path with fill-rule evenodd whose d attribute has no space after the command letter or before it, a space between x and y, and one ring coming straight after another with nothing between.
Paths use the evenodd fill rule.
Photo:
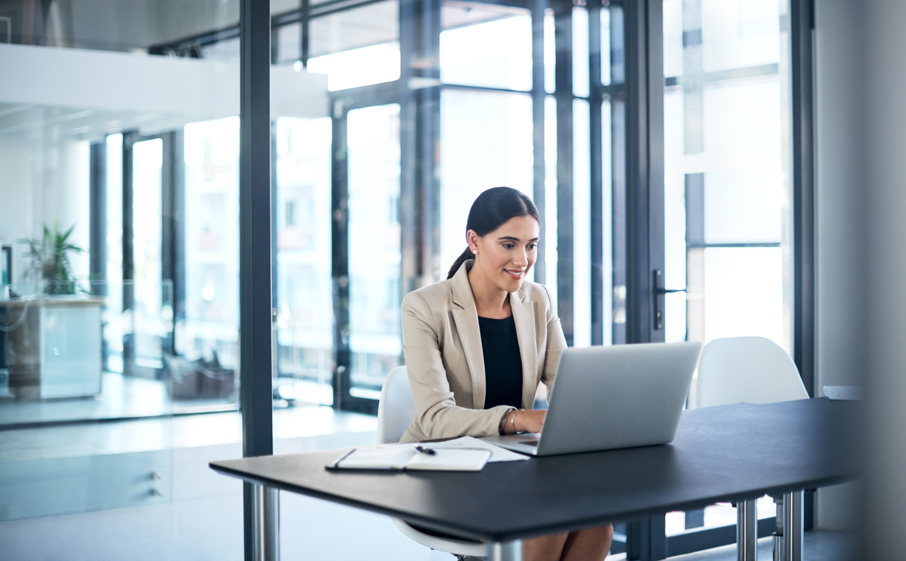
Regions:
<instances>
[{"instance_id":1,"label":"dark desk with metal legs under the laptop and notebook","mask_svg":"<svg viewBox=\"0 0 906 561\"><path fill-rule=\"evenodd\" d=\"M342 450L210 466L264 488L487 540L500 554L491 555L489 547L489 556L517 558L518 540L524 537L718 501L754 509L757 497L786 494L789 510L797 508L797 495L801 509L803 489L853 477L855 406L815 399L684 411L669 445L492 463L478 473L325 470ZM801 514L791 515L788 536L798 534L801 555ZM787 539L795 548L795 539Z\"/></svg>"}]
</instances>

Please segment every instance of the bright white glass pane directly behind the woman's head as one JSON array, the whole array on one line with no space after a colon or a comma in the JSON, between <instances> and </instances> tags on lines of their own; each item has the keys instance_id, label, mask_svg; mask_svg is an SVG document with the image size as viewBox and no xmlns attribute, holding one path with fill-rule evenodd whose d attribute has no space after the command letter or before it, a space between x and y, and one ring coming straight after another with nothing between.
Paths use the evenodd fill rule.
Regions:
<instances>
[{"instance_id":1,"label":"bright white glass pane directly behind the woman's head","mask_svg":"<svg viewBox=\"0 0 906 561\"><path fill-rule=\"evenodd\" d=\"M472 202L506 186L532 196L532 98L525 93L440 94L440 269L466 247ZM554 231L554 230L548 230Z\"/></svg>"}]
</instances>

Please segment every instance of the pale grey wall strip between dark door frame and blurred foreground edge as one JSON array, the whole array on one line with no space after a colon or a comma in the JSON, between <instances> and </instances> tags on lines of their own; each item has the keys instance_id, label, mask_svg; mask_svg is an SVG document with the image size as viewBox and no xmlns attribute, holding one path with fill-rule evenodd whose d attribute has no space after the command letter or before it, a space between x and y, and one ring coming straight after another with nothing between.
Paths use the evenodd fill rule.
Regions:
<instances>
[{"instance_id":1,"label":"pale grey wall strip between dark door frame and blurred foreground edge","mask_svg":"<svg viewBox=\"0 0 906 561\"><path fill-rule=\"evenodd\" d=\"M859 385L865 372L865 127L862 5L815 5L815 387ZM818 490L815 526L850 530L858 494Z\"/></svg>"}]
</instances>

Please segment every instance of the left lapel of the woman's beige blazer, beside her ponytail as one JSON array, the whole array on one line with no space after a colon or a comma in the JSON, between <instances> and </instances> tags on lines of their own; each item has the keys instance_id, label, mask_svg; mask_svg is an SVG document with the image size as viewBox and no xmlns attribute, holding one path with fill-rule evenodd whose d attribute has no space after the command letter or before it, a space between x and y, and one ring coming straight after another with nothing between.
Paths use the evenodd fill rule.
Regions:
<instances>
[{"instance_id":1,"label":"left lapel of the woman's beige blazer, beside her ponytail","mask_svg":"<svg viewBox=\"0 0 906 561\"><path fill-rule=\"evenodd\" d=\"M481 329L478 327L478 313L475 296L468 284L468 269L474 261L468 260L459 267L451 279L454 307L453 322L456 324L463 353L466 353L468 372L472 378L472 409L485 408L485 356L481 349Z\"/></svg>"}]
</instances>

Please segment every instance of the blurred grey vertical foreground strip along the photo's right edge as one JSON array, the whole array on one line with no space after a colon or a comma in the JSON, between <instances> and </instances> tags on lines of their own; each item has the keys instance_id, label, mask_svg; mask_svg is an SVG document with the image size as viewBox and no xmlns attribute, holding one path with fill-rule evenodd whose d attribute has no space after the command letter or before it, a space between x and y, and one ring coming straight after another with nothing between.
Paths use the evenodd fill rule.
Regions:
<instances>
[{"instance_id":1,"label":"blurred grey vertical foreground strip along the photo's right edge","mask_svg":"<svg viewBox=\"0 0 906 561\"><path fill-rule=\"evenodd\" d=\"M906 2L859 3L865 14L868 256L866 558L906 551Z\"/></svg>"}]
</instances>

